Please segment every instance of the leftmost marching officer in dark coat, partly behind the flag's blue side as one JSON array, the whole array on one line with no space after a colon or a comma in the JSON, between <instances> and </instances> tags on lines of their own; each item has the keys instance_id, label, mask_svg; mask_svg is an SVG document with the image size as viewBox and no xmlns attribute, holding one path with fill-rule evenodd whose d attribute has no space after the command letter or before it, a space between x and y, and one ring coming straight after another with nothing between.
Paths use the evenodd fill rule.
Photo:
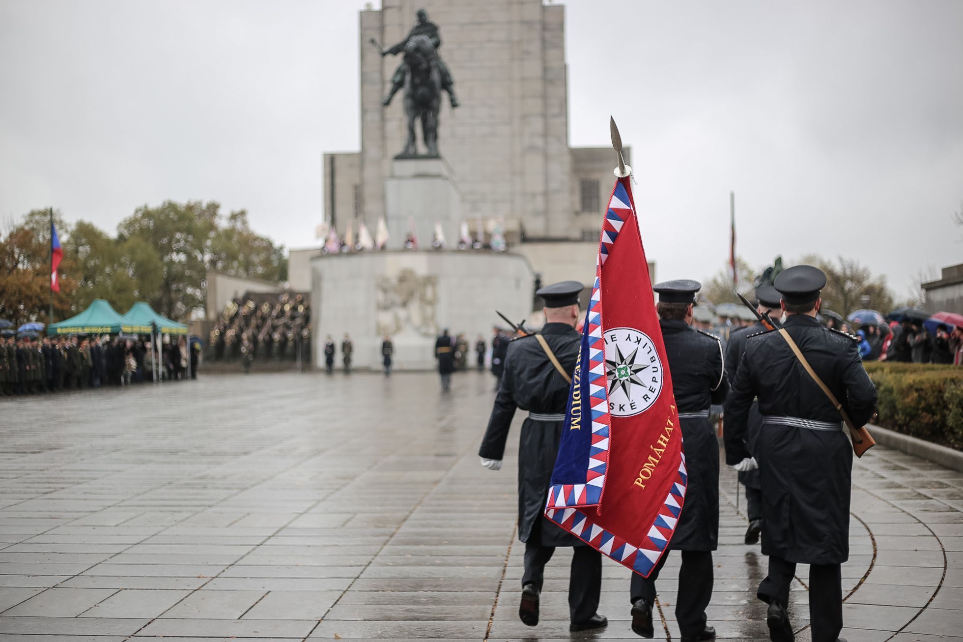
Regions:
<instances>
[{"instance_id":1,"label":"leftmost marching officer in dark coat, partly behind the flag's blue side","mask_svg":"<svg viewBox=\"0 0 963 642\"><path fill-rule=\"evenodd\" d=\"M540 334L569 377L575 371L582 340L575 330L582 287L577 281L563 281L536 293L545 301L546 323ZM569 382L534 335L511 341L507 352L505 374L479 455L485 468L502 468L515 409L529 413L522 423L518 448L518 539L525 543L519 617L530 627L538 624L545 565L556 547L575 547L568 583L570 629L605 627L608 620L596 613L602 589L602 554L542 516L559 454Z\"/></svg>"}]
</instances>

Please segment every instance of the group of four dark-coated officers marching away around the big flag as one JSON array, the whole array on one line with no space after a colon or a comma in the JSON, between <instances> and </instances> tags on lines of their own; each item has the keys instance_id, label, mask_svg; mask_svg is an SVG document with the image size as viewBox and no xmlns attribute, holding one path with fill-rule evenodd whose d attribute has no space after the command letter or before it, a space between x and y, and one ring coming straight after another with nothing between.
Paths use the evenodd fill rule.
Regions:
<instances>
[{"instance_id":1,"label":"group of four dark-coated officers marching away around the big flag","mask_svg":"<svg viewBox=\"0 0 963 642\"><path fill-rule=\"evenodd\" d=\"M756 290L757 311L784 318L785 334L762 323L729 336L692 327L697 281L667 281L658 312L689 473L686 502L670 544L647 577L633 574L632 630L654 635L656 582L670 550L681 553L675 615L683 642L712 640L706 609L714 587L713 551L718 543L719 444L710 408L724 404L726 464L753 487L746 541L768 555L768 575L757 595L766 602L769 638L793 642L787 606L796 564L809 565L809 612L813 642L845 642L841 565L848 558L852 446L842 415L817 383L829 389L856 426L875 411L876 390L850 334L824 328L817 319L825 275L795 266ZM518 454L519 539L525 570L519 618L538 624L544 568L557 547L574 547L569 583L570 629L599 629L601 553L543 516L558 457L569 385L581 344L575 330L582 283L565 281L538 291L545 301L544 345L530 337L508 347L504 376L488 420L481 465L502 466L516 409L528 411ZM545 347L547 346L547 347ZM796 357L794 347L808 361ZM559 362L559 366L553 364ZM756 476L755 480L747 479Z\"/></svg>"}]
</instances>

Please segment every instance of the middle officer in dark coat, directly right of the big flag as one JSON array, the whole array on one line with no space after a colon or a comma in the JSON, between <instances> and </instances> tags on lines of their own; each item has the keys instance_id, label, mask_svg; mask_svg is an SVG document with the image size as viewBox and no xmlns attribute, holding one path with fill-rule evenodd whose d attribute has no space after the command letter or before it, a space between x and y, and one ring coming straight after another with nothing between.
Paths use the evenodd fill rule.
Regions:
<instances>
[{"instance_id":1,"label":"middle officer in dark coat, directly right of the big flag","mask_svg":"<svg viewBox=\"0 0 963 642\"><path fill-rule=\"evenodd\" d=\"M716 637L716 629L706 626L706 607L713 596L712 551L719 530L719 447L709 407L722 403L729 389L719 338L691 327L695 293L701 287L690 280L652 287L659 293L659 327L689 470L686 504L669 544L669 550L682 551L675 616L683 642ZM632 575L632 630L642 637L654 633L656 580L667 558L664 554L648 577Z\"/></svg>"}]
</instances>

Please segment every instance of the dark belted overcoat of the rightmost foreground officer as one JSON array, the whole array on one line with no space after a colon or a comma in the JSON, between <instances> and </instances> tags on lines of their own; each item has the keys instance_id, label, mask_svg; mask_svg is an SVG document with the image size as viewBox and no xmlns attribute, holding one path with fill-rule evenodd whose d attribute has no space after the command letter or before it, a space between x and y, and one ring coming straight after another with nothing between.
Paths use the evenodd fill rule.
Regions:
<instances>
[{"instance_id":1,"label":"dark belted overcoat of the rightmost foreground officer","mask_svg":"<svg viewBox=\"0 0 963 642\"><path fill-rule=\"evenodd\" d=\"M786 331L857 426L872 417L873 387L849 334L793 314ZM852 446L840 430L784 425L795 417L841 425L842 418L776 332L748 337L726 403L726 463L749 457L749 407L759 397L763 427L757 449L763 485L763 554L800 564L842 564L849 556Z\"/></svg>"}]
</instances>

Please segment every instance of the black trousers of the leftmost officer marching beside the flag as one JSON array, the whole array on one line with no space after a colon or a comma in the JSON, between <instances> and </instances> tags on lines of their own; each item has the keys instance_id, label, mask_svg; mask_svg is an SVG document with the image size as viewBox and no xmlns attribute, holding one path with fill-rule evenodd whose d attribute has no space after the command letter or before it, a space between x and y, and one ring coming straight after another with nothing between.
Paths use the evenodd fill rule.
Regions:
<instances>
[{"instance_id":1,"label":"black trousers of the leftmost officer marching beside the flag","mask_svg":"<svg viewBox=\"0 0 963 642\"><path fill-rule=\"evenodd\" d=\"M539 544L533 535L525 543L525 574L522 587L532 583L541 590L545 565L552 559L555 547ZM572 547L572 571L568 575L568 612L576 624L587 622L599 607L602 591L602 553L591 547Z\"/></svg>"}]
</instances>

